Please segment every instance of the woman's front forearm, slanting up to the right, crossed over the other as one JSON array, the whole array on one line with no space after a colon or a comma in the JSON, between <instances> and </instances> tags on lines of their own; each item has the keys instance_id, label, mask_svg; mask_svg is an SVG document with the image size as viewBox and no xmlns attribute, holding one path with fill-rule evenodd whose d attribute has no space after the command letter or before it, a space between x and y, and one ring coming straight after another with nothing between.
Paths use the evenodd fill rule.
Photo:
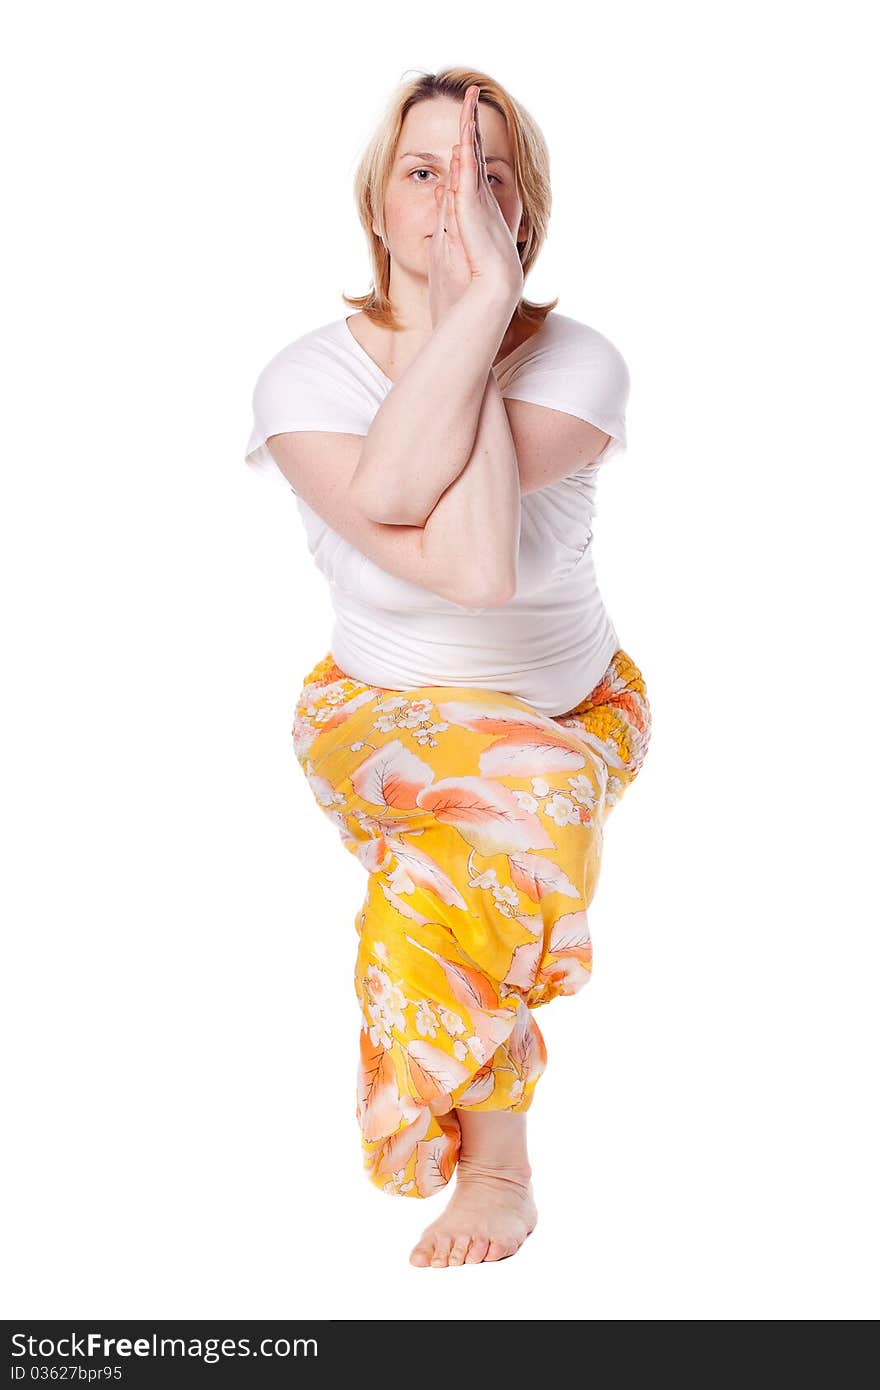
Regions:
<instances>
[{"instance_id":1,"label":"woman's front forearm, slanting up to the right, crossed over the other","mask_svg":"<svg viewBox=\"0 0 880 1390\"><path fill-rule=\"evenodd\" d=\"M474 281L385 396L352 478L377 521L421 525L464 468L517 299Z\"/></svg>"}]
</instances>

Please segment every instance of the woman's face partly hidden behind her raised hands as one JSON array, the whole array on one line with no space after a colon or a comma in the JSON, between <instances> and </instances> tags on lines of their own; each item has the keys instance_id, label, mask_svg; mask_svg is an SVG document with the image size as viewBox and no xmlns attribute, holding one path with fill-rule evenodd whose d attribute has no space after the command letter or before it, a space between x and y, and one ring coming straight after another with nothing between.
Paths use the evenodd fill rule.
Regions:
<instances>
[{"instance_id":1,"label":"woman's face partly hidden behind her raised hands","mask_svg":"<svg viewBox=\"0 0 880 1390\"><path fill-rule=\"evenodd\" d=\"M385 239L392 261L427 275L428 238L437 224L435 189L449 179L452 146L459 143L462 103L432 97L410 107L400 128L385 190ZM503 117L480 101L488 181L514 240L524 239L523 202L513 183L513 154ZM416 153L413 153L416 152ZM428 158L427 154L432 157ZM494 156L496 158L494 158ZM380 228L373 224L378 235Z\"/></svg>"}]
</instances>

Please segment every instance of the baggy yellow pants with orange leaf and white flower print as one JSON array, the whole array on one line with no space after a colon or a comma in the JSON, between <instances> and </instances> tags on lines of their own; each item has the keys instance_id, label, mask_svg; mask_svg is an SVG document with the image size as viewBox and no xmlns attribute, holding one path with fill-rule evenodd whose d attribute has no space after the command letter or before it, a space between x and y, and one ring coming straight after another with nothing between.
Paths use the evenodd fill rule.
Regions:
<instances>
[{"instance_id":1,"label":"baggy yellow pants with orange leaf and white flower print","mask_svg":"<svg viewBox=\"0 0 880 1390\"><path fill-rule=\"evenodd\" d=\"M457 1109L527 1111L546 1065L532 1011L589 980L603 826L638 776L651 706L619 649L566 714L499 691L364 685L327 653L293 749L368 874L356 916L357 1119L388 1193L430 1197Z\"/></svg>"}]
</instances>

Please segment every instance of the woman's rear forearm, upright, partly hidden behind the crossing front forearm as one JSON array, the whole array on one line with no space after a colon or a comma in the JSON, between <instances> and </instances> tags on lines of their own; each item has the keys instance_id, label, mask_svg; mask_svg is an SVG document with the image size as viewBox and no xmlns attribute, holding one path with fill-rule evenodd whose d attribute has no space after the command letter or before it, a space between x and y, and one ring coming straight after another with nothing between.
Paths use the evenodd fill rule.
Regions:
<instances>
[{"instance_id":1,"label":"woman's rear forearm, upright, partly hidden behind the crossing front forearm","mask_svg":"<svg viewBox=\"0 0 880 1390\"><path fill-rule=\"evenodd\" d=\"M503 603L516 592L521 493L503 396L489 373L473 452L424 524L434 569L457 574L462 605Z\"/></svg>"}]
</instances>

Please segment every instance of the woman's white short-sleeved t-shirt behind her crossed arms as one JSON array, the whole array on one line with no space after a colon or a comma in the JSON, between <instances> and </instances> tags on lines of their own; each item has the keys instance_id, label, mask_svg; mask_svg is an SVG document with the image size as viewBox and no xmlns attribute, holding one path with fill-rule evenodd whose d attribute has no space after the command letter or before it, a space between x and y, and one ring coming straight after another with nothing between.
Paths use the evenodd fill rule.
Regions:
<instances>
[{"instance_id":1,"label":"woman's white short-sleeved t-shirt behind her crossed arms","mask_svg":"<svg viewBox=\"0 0 880 1390\"><path fill-rule=\"evenodd\" d=\"M393 382L346 317L303 334L266 364L246 448L253 468L296 495L310 553L329 585L334 659L370 685L473 685L564 714L621 645L596 585L591 521L598 468L626 449L624 359L595 328L553 310L495 364L502 396L564 410L612 438L596 463L523 498L514 596L499 607L462 607L368 560L307 506L266 446L270 435L292 430L368 432Z\"/></svg>"}]
</instances>

